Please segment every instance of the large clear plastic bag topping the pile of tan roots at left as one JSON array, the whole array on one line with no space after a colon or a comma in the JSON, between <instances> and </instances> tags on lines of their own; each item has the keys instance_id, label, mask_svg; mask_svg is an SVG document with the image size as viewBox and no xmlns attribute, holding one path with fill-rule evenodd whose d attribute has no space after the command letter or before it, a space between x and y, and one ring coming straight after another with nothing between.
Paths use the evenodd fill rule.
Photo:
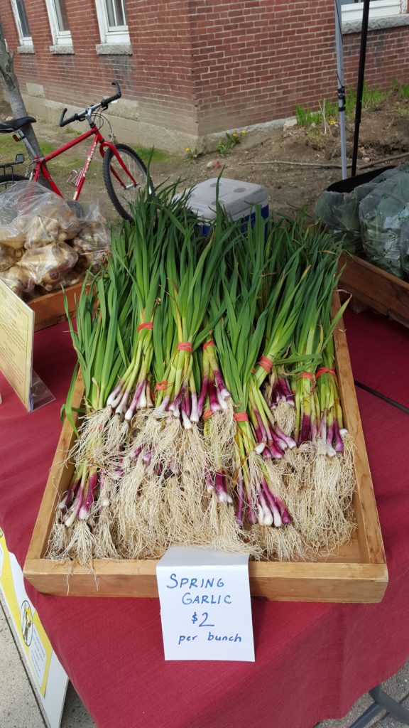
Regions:
<instances>
[{"instance_id":1,"label":"large clear plastic bag topping the pile of tan roots at left","mask_svg":"<svg viewBox=\"0 0 409 728\"><path fill-rule=\"evenodd\" d=\"M0 242L41 248L75 237L81 221L62 197L38 182L20 181L0 195Z\"/></svg>"}]
</instances>

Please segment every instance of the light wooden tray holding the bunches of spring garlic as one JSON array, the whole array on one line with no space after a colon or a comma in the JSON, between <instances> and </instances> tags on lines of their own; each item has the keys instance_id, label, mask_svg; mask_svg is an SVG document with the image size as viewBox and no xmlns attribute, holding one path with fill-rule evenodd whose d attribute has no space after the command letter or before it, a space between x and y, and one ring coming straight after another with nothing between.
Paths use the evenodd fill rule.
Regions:
<instances>
[{"instance_id":1,"label":"light wooden tray holding the bunches of spring garlic","mask_svg":"<svg viewBox=\"0 0 409 728\"><path fill-rule=\"evenodd\" d=\"M342 323L335 331L336 368L346 427L357 445L357 489L354 510L357 529L351 541L317 563L250 561L250 590L254 596L280 601L378 602L388 583L384 546L354 388L349 352ZM82 399L82 381L74 392L74 407ZM67 422L25 560L24 575L40 592L58 596L158 596L156 561L94 561L95 572L71 563L44 558L55 507L68 488L73 467L62 461L74 443Z\"/></svg>"}]
</instances>

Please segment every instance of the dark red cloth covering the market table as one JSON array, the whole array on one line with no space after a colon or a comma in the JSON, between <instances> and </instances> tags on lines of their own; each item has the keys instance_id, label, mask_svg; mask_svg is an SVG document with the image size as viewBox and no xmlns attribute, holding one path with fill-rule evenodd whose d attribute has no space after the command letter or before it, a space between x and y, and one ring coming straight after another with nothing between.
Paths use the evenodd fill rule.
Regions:
<instances>
[{"instance_id":1,"label":"dark red cloth covering the market table","mask_svg":"<svg viewBox=\"0 0 409 728\"><path fill-rule=\"evenodd\" d=\"M26 414L0 376L0 525L23 565L74 361L66 324L36 336L57 401ZM346 315L354 374L408 404L408 332ZM399 387L394 381L400 382ZM399 391L397 391L399 389ZM381 604L253 600L255 663L164 662L156 599L57 598L27 585L55 652L100 728L311 728L344 715L409 654L408 415L358 391L389 567Z\"/></svg>"}]
</instances>

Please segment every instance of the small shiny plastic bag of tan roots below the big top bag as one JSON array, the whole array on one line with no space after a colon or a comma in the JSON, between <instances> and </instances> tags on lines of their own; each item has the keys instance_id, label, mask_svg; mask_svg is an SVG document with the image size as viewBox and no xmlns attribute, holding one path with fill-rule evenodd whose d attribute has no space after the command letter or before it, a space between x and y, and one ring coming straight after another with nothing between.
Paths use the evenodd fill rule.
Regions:
<instances>
[{"instance_id":1,"label":"small shiny plastic bag of tan roots below the big top bag","mask_svg":"<svg viewBox=\"0 0 409 728\"><path fill-rule=\"evenodd\" d=\"M41 285L49 292L61 285L77 261L76 251L62 242L27 250L19 266L31 277L33 285Z\"/></svg>"}]
</instances>

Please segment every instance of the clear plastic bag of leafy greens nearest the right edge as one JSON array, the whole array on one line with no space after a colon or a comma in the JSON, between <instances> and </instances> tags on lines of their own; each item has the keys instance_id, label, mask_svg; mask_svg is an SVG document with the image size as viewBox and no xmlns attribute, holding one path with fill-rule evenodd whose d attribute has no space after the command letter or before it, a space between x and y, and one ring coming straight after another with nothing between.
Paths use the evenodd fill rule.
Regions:
<instances>
[{"instance_id":1,"label":"clear plastic bag of leafy greens nearest the right edge","mask_svg":"<svg viewBox=\"0 0 409 728\"><path fill-rule=\"evenodd\" d=\"M399 278L405 277L401 231L408 219L409 170L398 170L379 183L360 203L365 257Z\"/></svg>"}]
</instances>

